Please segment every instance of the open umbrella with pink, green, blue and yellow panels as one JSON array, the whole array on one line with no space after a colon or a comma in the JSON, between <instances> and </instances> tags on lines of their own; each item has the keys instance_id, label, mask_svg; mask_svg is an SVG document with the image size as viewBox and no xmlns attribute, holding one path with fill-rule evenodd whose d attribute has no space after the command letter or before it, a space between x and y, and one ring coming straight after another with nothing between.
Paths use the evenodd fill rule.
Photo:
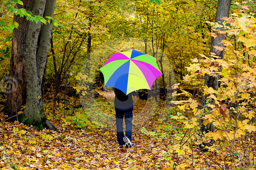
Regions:
<instances>
[{"instance_id":1,"label":"open umbrella with pink, green, blue and yellow panels","mask_svg":"<svg viewBox=\"0 0 256 170\"><path fill-rule=\"evenodd\" d=\"M154 57L134 49L114 53L100 70L105 86L118 88L126 95L139 89L151 90L156 78L162 75Z\"/></svg>"}]
</instances>

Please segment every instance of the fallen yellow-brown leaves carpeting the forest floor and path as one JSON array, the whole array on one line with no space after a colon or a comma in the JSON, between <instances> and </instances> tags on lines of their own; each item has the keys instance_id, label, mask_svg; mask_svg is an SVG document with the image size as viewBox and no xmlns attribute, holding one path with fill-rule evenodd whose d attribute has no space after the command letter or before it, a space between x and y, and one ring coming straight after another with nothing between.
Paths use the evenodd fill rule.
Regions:
<instances>
[{"instance_id":1,"label":"fallen yellow-brown leaves carpeting the forest floor and path","mask_svg":"<svg viewBox=\"0 0 256 170\"><path fill-rule=\"evenodd\" d=\"M113 93L101 92L113 103ZM35 130L18 121L0 124L1 169L191 169L191 154L179 155L172 146L180 143L182 131L159 129L161 113L148 102L135 99L133 148L118 149L115 129L84 129L67 126L61 120L51 120L62 133ZM112 105L113 107L113 105ZM158 108L159 109L159 108ZM114 114L114 113L112 113ZM1 113L1 117L3 114ZM112 122L113 124L115 122ZM113 125L115 127L115 125ZM142 133L141 128L154 135ZM174 133L180 133L180 138ZM172 136L176 138L172 138ZM225 153L194 150L195 169L221 169ZM186 155L186 154L185 154ZM226 160L227 161L227 160Z\"/></svg>"}]
</instances>

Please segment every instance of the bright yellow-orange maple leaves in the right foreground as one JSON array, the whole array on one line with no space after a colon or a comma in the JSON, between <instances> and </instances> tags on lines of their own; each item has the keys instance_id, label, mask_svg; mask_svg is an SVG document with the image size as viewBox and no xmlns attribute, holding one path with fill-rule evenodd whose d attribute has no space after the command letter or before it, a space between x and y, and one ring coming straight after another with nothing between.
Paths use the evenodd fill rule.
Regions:
<instances>
[{"instance_id":1,"label":"bright yellow-orange maple leaves in the right foreground","mask_svg":"<svg viewBox=\"0 0 256 170\"><path fill-rule=\"evenodd\" d=\"M249 7L243 6L242 10L248 10ZM193 124L193 118L195 116L201 116L204 118L203 125L207 126L210 123L214 124L214 130L208 133L204 133L204 137L207 139L213 139L218 141L221 145L224 145L229 150L236 150L238 159L250 162L243 156L246 148L253 148L249 145L254 138L255 126L255 60L254 57L255 47L255 32L254 24L255 19L253 16L247 14L236 14L236 17L223 18L229 26L224 23L224 26L213 24L216 32L212 33L213 37L225 34L230 37L236 36L236 40L242 44L240 48L237 48L238 43L236 40L226 40L221 43L226 47L215 46L216 50L225 50L226 58L220 59L216 54L212 54L211 57L206 57L204 54L200 54L200 57L204 59L191 59L192 63L186 67L189 74L183 76L183 82L187 85L187 88L199 91L199 96L205 96L205 105L200 105L201 100L196 100L201 108L193 108L187 100L172 101L176 104L176 109L186 115L186 118L180 118L179 116L173 116L174 119L181 124L183 122L183 128L191 130L195 128L196 124ZM218 27L225 28L225 31L217 31ZM236 44L234 44L236 43ZM241 48L242 47L242 48ZM251 56L249 56L251 55ZM247 57L248 56L248 57ZM249 59L249 57L251 57ZM248 58L248 60L247 60ZM204 86L205 73L208 75L216 76L220 86L218 90L214 90L212 87ZM196 84L193 84L196 82ZM183 86L184 86L183 84ZM176 87L176 89L182 88ZM181 90L180 90L181 91ZM179 94L182 94L182 91ZM176 92L176 96L179 96ZM183 94L184 95L184 94ZM187 99L191 99L195 96L186 96ZM195 99L192 98L192 99ZM198 99L198 98L197 98ZM214 101L214 102L212 102ZM200 111L200 112L199 112ZM246 145L241 146L241 139L246 138ZM233 144L232 144L233 143ZM233 145L233 146L232 146ZM179 148L180 149L180 148ZM208 148L212 151L212 148ZM180 150L176 150L180 152ZM252 155L252 153L250 154Z\"/></svg>"}]
</instances>

